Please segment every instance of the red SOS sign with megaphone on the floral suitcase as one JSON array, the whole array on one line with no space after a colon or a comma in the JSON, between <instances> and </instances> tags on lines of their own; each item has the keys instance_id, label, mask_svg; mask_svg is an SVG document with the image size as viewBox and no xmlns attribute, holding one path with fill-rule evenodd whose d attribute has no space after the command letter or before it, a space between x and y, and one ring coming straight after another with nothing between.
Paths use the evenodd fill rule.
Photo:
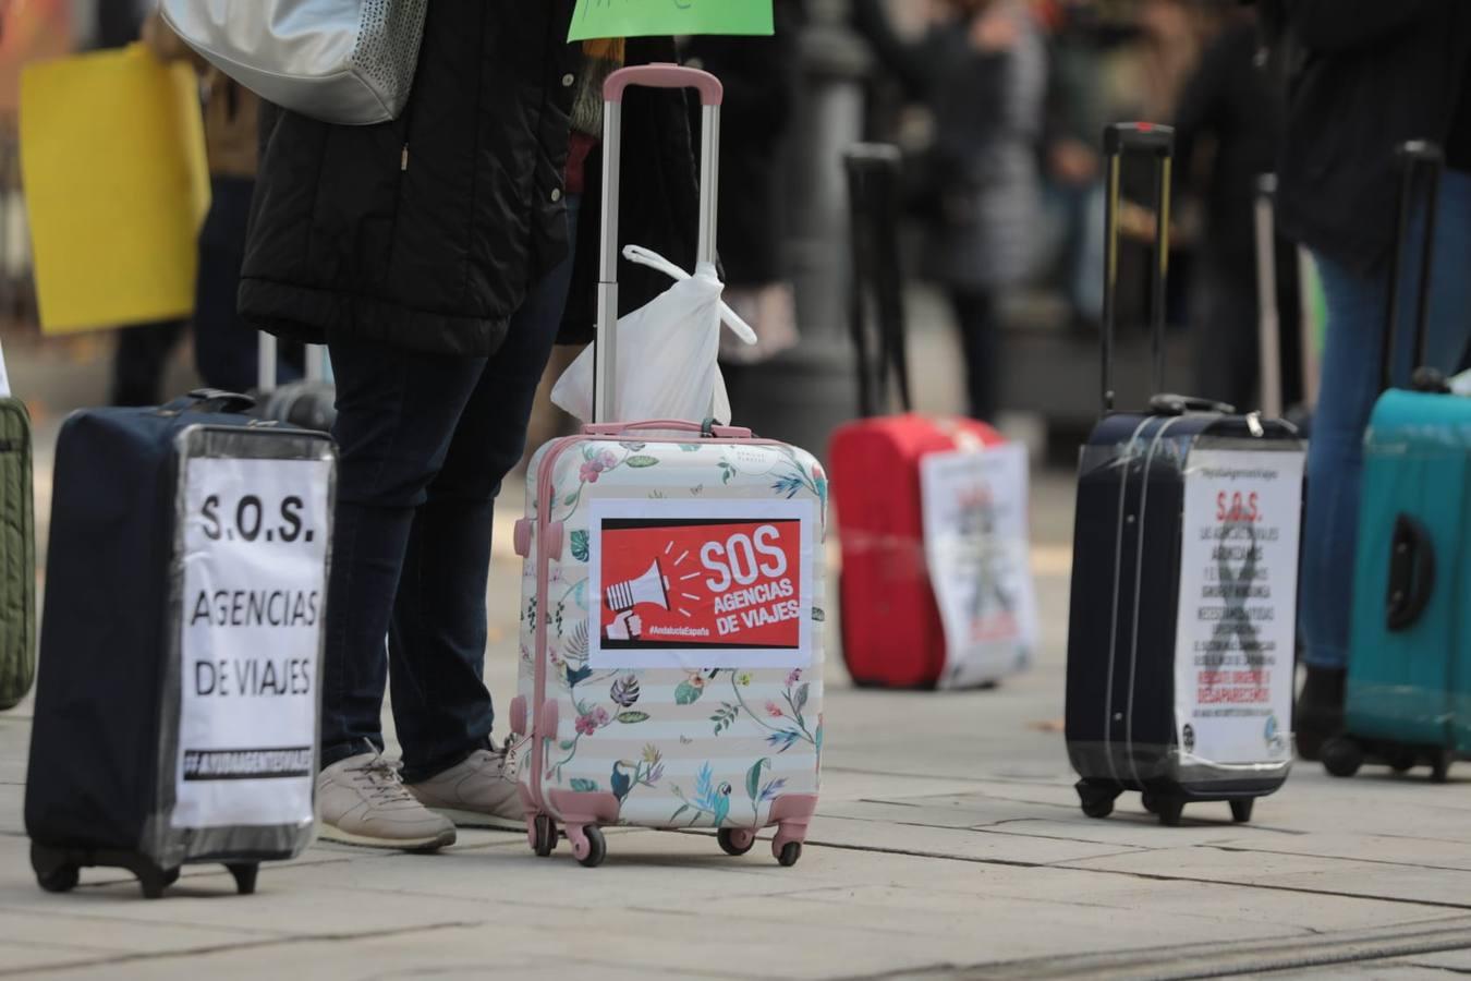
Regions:
<instances>
[{"instance_id":1,"label":"red SOS sign with megaphone on the floral suitcase","mask_svg":"<svg viewBox=\"0 0 1471 981\"><path fill-rule=\"evenodd\" d=\"M805 668L808 500L590 506L591 668Z\"/></svg>"}]
</instances>

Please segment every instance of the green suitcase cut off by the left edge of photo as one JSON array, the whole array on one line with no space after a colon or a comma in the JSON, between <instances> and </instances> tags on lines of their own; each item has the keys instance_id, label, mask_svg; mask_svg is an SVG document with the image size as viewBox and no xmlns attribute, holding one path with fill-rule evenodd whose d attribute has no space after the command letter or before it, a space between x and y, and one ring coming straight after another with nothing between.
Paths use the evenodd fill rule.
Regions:
<instances>
[{"instance_id":1,"label":"green suitcase cut off by the left edge of photo","mask_svg":"<svg viewBox=\"0 0 1471 981\"><path fill-rule=\"evenodd\" d=\"M0 397L0 709L21 702L35 678L35 512L31 499L31 416L25 403L4 396Z\"/></svg>"}]
</instances>

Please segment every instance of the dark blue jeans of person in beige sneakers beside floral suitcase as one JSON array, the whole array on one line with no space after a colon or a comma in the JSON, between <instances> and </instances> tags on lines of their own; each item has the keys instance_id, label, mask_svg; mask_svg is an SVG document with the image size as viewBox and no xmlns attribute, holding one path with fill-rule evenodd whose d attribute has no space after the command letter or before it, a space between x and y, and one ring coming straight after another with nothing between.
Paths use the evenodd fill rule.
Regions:
<instances>
[{"instance_id":1,"label":"dark blue jeans of person in beige sneakers beside floral suitcase","mask_svg":"<svg viewBox=\"0 0 1471 981\"><path fill-rule=\"evenodd\" d=\"M578 203L568 199L572 234ZM406 781L488 746L494 716L481 675L494 500L525 449L571 278L569 252L533 288L493 357L328 337L340 462L324 768L382 752L385 682Z\"/></svg>"}]
</instances>

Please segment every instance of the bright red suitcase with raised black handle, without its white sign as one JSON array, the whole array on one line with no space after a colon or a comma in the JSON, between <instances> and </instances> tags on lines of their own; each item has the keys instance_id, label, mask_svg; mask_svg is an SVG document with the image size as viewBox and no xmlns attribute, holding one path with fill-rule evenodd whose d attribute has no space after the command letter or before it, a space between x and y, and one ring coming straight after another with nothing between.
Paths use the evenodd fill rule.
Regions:
<instances>
[{"instance_id":1,"label":"bright red suitcase with raised black handle, without its white sign","mask_svg":"<svg viewBox=\"0 0 1471 981\"><path fill-rule=\"evenodd\" d=\"M909 410L902 284L897 271L899 151L859 146L847 154L853 212L852 329L859 412L875 416L897 382L903 415L863 418L834 434L828 453L840 527L843 657L855 684L933 688L947 665L946 632L925 557L921 459L1005 443L986 424ZM866 329L872 291L877 353Z\"/></svg>"}]
</instances>

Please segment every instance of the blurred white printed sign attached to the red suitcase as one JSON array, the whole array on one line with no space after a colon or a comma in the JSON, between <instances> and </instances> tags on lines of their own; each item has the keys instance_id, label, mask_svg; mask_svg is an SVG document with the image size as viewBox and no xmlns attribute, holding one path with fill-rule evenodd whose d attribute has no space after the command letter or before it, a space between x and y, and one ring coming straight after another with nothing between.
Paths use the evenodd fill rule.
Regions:
<instances>
[{"instance_id":1,"label":"blurred white printed sign attached to the red suitcase","mask_svg":"<svg viewBox=\"0 0 1471 981\"><path fill-rule=\"evenodd\" d=\"M1025 668L1037 641L1027 521L1027 450L1008 444L919 460L924 547L944 624L940 687Z\"/></svg>"}]
</instances>

